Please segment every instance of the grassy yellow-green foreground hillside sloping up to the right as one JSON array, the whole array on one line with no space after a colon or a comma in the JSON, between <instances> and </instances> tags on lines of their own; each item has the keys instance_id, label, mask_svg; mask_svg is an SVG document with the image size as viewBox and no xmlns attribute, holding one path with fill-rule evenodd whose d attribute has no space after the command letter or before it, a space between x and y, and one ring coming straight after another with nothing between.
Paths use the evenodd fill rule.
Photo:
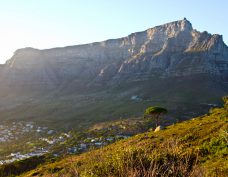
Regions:
<instances>
[{"instance_id":1,"label":"grassy yellow-green foreground hillside sloping up to the right","mask_svg":"<svg viewBox=\"0 0 228 177\"><path fill-rule=\"evenodd\" d=\"M226 176L228 109L146 132L21 176Z\"/></svg>"}]
</instances>

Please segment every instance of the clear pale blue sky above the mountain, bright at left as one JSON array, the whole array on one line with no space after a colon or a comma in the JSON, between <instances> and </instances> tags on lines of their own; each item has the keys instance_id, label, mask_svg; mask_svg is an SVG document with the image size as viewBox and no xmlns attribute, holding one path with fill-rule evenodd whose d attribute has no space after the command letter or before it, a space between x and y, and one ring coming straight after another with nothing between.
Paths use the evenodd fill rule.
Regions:
<instances>
[{"instance_id":1,"label":"clear pale blue sky above the mountain, bright at left","mask_svg":"<svg viewBox=\"0 0 228 177\"><path fill-rule=\"evenodd\" d=\"M0 63L18 48L102 41L184 17L228 44L228 0L0 0Z\"/></svg>"}]
</instances>

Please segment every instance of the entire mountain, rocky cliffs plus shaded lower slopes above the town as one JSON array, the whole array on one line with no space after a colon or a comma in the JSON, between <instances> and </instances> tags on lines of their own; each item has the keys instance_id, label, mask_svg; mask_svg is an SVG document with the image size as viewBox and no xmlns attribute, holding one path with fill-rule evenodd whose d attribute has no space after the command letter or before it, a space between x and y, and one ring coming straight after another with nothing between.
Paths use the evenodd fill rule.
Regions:
<instances>
[{"instance_id":1,"label":"entire mountain, rocky cliffs plus shaded lower slopes above the town","mask_svg":"<svg viewBox=\"0 0 228 177\"><path fill-rule=\"evenodd\" d=\"M132 109L105 111L130 105L132 95L142 98L133 115L147 104L191 112L193 100L202 107L227 94L228 48L183 19L103 42L19 49L0 67L0 83L2 119L124 117Z\"/></svg>"}]
</instances>

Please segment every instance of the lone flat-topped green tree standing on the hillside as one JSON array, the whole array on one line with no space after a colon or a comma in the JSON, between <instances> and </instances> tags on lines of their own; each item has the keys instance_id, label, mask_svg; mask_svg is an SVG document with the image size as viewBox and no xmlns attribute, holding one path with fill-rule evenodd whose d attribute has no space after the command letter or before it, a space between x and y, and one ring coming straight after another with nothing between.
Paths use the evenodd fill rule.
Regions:
<instances>
[{"instance_id":1,"label":"lone flat-topped green tree standing on the hillside","mask_svg":"<svg viewBox=\"0 0 228 177\"><path fill-rule=\"evenodd\" d=\"M159 120L162 115L166 114L168 111L162 107L148 107L145 110L144 117L148 117L150 121L155 121L156 127L159 124Z\"/></svg>"}]
</instances>

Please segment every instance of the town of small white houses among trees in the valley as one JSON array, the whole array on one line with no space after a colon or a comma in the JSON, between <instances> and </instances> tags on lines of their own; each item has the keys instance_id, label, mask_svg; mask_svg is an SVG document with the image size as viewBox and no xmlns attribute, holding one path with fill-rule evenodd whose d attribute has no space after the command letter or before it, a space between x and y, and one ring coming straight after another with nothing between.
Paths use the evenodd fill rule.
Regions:
<instances>
[{"instance_id":1,"label":"town of small white houses among trees in the valley","mask_svg":"<svg viewBox=\"0 0 228 177\"><path fill-rule=\"evenodd\" d=\"M113 143L117 140L129 137L122 134L112 136L106 135L100 137L85 134L81 139L74 139L71 134L61 133L57 135L54 130L49 130L47 127L36 126L33 122L13 122L12 126L0 125L0 143L13 140L15 138L18 138L19 135L24 135L25 133L31 132L34 132L36 134L38 133L40 135L40 138L38 138L39 142L45 142L46 145L42 145L42 148L36 147L33 152L28 152L24 154L22 154L21 152L11 153L10 155L4 157L4 159L0 159L0 165L34 156L41 156L46 153L52 153L52 147L55 147L55 145L59 145L61 143L65 143L69 139L73 139L74 145L69 145L67 147L67 153L76 154L88 151L92 148L99 148ZM53 155L59 156L61 155L61 152L53 152Z\"/></svg>"}]
</instances>

